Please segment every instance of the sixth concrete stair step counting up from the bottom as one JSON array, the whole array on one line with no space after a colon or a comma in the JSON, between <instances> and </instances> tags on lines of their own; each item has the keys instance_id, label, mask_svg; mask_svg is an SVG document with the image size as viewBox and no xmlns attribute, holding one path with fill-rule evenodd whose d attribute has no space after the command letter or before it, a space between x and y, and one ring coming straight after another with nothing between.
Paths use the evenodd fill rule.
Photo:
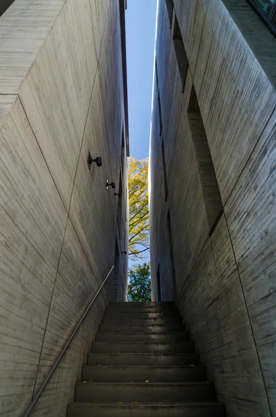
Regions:
<instances>
[{"instance_id":1,"label":"sixth concrete stair step counting up from the bottom","mask_svg":"<svg viewBox=\"0 0 276 417\"><path fill-rule=\"evenodd\" d=\"M120 332L99 332L96 336L97 342L181 342L189 338L186 332L173 333L120 333Z\"/></svg>"}]
</instances>

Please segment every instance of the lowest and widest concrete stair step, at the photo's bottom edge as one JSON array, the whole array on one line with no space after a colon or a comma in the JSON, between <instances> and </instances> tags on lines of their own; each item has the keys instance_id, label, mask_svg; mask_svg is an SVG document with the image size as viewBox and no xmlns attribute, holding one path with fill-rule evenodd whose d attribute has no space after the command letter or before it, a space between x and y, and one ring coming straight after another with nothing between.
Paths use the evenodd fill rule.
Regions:
<instances>
[{"instance_id":1,"label":"lowest and widest concrete stair step, at the photo's bottom edge","mask_svg":"<svg viewBox=\"0 0 276 417\"><path fill-rule=\"evenodd\" d=\"M67 417L224 417L224 407L218 402L170 402L162 404L131 402L125 404L95 404L72 402Z\"/></svg>"}]
</instances>

